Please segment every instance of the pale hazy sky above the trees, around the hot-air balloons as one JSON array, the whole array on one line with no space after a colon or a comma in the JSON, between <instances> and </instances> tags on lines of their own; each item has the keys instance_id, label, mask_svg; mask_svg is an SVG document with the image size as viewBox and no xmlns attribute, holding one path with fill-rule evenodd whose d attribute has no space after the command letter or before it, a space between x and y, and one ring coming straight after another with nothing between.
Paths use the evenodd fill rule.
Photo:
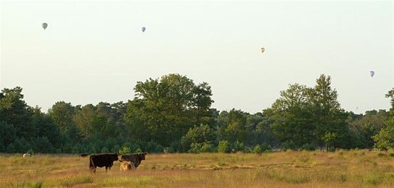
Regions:
<instances>
[{"instance_id":1,"label":"pale hazy sky above the trees, around the hot-air balloons","mask_svg":"<svg viewBox=\"0 0 394 188\"><path fill-rule=\"evenodd\" d=\"M324 74L346 111L388 110L393 10L393 1L1 0L0 88L22 87L46 112L59 101L127 102L137 81L177 73L207 82L213 108L256 113Z\"/></svg>"}]
</instances>

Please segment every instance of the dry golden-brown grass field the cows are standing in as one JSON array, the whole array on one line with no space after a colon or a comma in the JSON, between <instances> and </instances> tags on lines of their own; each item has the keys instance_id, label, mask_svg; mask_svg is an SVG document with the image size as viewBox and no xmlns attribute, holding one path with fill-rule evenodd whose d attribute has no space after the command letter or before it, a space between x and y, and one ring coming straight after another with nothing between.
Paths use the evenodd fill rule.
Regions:
<instances>
[{"instance_id":1,"label":"dry golden-brown grass field the cows are standing in","mask_svg":"<svg viewBox=\"0 0 394 188\"><path fill-rule=\"evenodd\" d=\"M148 154L137 171L89 157L0 155L0 187L394 187L394 151Z\"/></svg>"}]
</instances>

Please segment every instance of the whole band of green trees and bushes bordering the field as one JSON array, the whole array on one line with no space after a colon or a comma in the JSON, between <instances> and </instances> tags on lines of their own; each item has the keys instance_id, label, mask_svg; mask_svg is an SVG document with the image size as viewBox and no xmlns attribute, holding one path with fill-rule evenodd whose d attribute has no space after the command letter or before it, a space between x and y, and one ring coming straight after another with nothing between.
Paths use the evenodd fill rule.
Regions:
<instances>
[{"instance_id":1,"label":"whole band of green trees and bushes bordering the field","mask_svg":"<svg viewBox=\"0 0 394 188\"><path fill-rule=\"evenodd\" d=\"M344 111L331 77L313 87L289 84L271 107L250 114L218 111L211 86L178 74L137 81L128 102L59 101L44 113L22 88L0 93L0 152L264 152L394 148L391 110Z\"/></svg>"}]
</instances>

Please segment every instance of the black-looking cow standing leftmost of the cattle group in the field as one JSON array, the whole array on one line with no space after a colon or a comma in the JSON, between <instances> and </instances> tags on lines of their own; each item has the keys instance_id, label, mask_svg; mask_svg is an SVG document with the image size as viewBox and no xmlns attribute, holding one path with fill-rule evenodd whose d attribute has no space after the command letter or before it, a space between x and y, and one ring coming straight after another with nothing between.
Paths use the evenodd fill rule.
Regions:
<instances>
[{"instance_id":1,"label":"black-looking cow standing leftmost of the cattle group in the field","mask_svg":"<svg viewBox=\"0 0 394 188\"><path fill-rule=\"evenodd\" d=\"M94 154L89 158L89 169L96 172L97 167L105 166L105 171L107 171L107 169L111 169L112 165L114 165L114 161L117 160L119 159L116 153Z\"/></svg>"}]
</instances>

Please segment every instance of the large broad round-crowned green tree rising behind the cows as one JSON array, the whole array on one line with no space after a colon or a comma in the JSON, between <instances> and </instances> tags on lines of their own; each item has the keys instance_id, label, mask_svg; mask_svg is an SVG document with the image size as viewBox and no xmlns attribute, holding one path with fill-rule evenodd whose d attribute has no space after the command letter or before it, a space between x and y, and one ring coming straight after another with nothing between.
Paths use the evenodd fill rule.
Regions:
<instances>
[{"instance_id":1,"label":"large broad round-crowned green tree rising behind the cows","mask_svg":"<svg viewBox=\"0 0 394 188\"><path fill-rule=\"evenodd\" d=\"M192 79L170 74L161 79L137 81L135 98L128 102L130 130L146 130L153 141L169 146L189 128L210 117L211 88Z\"/></svg>"}]
</instances>

